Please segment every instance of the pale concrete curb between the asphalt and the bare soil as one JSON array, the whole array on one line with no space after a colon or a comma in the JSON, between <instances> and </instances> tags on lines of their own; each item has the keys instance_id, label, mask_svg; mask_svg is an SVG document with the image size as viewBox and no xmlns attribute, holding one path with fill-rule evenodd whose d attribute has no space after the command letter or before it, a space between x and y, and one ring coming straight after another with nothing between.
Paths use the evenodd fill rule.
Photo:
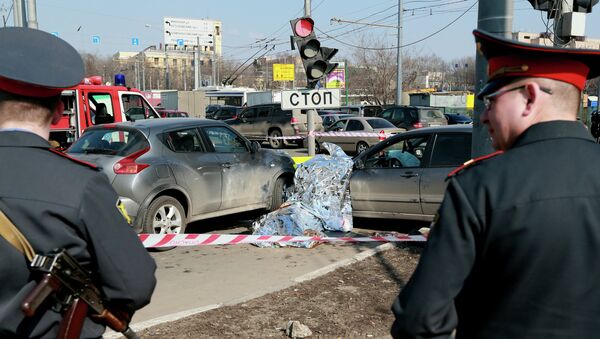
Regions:
<instances>
[{"instance_id":1,"label":"pale concrete curb between the asphalt and the bare soil","mask_svg":"<svg viewBox=\"0 0 600 339\"><path fill-rule=\"evenodd\" d=\"M377 253L380 253L380 252L383 252L383 251L387 251L387 250L392 249L394 247L396 247L396 244L394 244L394 243L385 243L385 244L379 245L379 246L377 246L375 248L368 249L368 250L362 251L362 252L360 252L358 254L355 254L352 258L340 260L338 262L335 262L335 263L333 263L331 265L327 265L327 266L325 266L323 268L320 268L318 270L315 270L315 271L306 273L304 275L301 275L299 277L293 278L293 279L291 279L291 281L294 282L294 283L301 283L301 282L304 282L304 281L312 280L312 279L318 278L320 276L323 276L323 275L325 275L327 273L333 272L333 271L335 271L336 269L338 269L340 267L348 266L348 265L354 264L356 262L365 260L365 259L367 259L367 258L369 258L369 257L371 257L371 256L373 256L373 255L375 255ZM262 297L262 296L264 296L266 294L273 293L273 292L276 292L276 291L279 291L279 290L281 290L281 289L279 289L279 288L269 289L269 290L260 291L260 292L257 292L257 293L252 293L252 294L243 296L241 298L231 299L231 300L225 301L225 302L220 303L220 304L212 304L212 305L207 305L207 306L203 306L203 307L194 308L194 309L191 309L191 310L186 310L186 311L181 311L181 312L177 312L177 313L167 314L167 315L162 316L162 317L150 319L150 320L143 321L143 322L140 322L140 323L131 324L131 328L134 331L136 331L136 332L142 331L142 330L144 330L146 328L149 328L149 327L152 327L152 326L160 325L160 324L166 323L166 322L177 321L177 320L183 319L185 317L189 317L191 315L195 315L195 314L199 314L199 313L202 313L202 312L214 310L214 309L219 308L221 306L231 306L231 305L240 304L240 303L246 302L248 300L259 298L259 297ZM114 339L114 338L121 338L122 336L123 335L120 334L120 333L114 332L112 330L108 330L108 331L106 331L104 333L103 337L106 338L106 339Z\"/></svg>"}]
</instances>

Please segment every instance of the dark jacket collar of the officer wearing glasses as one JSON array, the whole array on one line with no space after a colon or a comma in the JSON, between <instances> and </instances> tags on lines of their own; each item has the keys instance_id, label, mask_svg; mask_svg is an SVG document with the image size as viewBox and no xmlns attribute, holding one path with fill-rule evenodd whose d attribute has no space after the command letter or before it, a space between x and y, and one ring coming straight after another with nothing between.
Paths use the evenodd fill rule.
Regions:
<instances>
[{"instance_id":1,"label":"dark jacket collar of the officer wearing glasses","mask_svg":"<svg viewBox=\"0 0 600 339\"><path fill-rule=\"evenodd\" d=\"M511 148L527 145L537 141L576 138L595 142L590 132L579 121L555 120L546 121L529 127Z\"/></svg>"}]
</instances>

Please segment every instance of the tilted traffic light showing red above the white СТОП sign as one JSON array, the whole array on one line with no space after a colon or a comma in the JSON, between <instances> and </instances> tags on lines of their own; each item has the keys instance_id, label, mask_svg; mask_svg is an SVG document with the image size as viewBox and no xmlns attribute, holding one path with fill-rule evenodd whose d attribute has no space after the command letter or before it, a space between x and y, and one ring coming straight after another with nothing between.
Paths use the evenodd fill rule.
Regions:
<instances>
[{"instance_id":1,"label":"tilted traffic light showing red above the white \u0421\u0422\u041e\u041f sign","mask_svg":"<svg viewBox=\"0 0 600 339\"><path fill-rule=\"evenodd\" d=\"M321 47L321 43L314 32L315 23L311 18L302 17L290 20L290 24L294 33L292 39L296 42L306 72L307 87L315 88L319 79L331 73L337 67L338 64L332 63L330 60L338 50L336 48Z\"/></svg>"}]
</instances>

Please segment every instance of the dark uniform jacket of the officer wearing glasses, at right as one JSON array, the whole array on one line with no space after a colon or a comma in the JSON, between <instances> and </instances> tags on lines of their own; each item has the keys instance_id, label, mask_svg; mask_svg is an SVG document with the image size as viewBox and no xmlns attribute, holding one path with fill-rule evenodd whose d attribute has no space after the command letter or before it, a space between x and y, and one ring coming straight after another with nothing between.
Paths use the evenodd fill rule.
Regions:
<instances>
[{"instance_id":1,"label":"dark uniform jacket of the officer wearing glasses, at right","mask_svg":"<svg viewBox=\"0 0 600 339\"><path fill-rule=\"evenodd\" d=\"M392 334L598 338L599 265L599 145L578 122L536 124L449 180Z\"/></svg>"}]
</instances>

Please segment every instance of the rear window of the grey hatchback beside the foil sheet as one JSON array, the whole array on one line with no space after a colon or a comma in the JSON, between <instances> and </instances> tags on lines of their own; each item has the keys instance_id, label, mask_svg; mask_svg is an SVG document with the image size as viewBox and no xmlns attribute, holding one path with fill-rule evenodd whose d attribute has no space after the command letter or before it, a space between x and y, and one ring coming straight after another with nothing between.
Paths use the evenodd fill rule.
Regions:
<instances>
[{"instance_id":1,"label":"rear window of the grey hatchback beside the foil sheet","mask_svg":"<svg viewBox=\"0 0 600 339\"><path fill-rule=\"evenodd\" d=\"M128 156L149 146L146 137L136 130L94 129L86 131L67 152Z\"/></svg>"}]
</instances>

